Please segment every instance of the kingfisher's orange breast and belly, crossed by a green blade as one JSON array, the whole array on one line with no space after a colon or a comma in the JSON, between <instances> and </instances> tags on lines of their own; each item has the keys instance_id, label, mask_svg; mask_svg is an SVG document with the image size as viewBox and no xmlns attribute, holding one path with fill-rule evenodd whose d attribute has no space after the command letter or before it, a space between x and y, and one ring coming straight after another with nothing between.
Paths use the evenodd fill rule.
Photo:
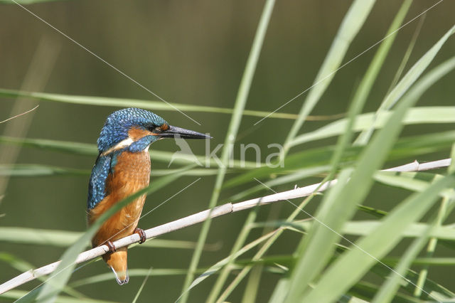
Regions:
<instances>
[{"instance_id":1,"label":"kingfisher's orange breast and belly, crossed by a green blade","mask_svg":"<svg viewBox=\"0 0 455 303\"><path fill-rule=\"evenodd\" d=\"M112 174L109 174L106 179L105 198L88 213L89 225L115 203L149 186L149 181L148 151L137 153L124 151L119 154ZM137 198L105 221L92 239L92 245L95 247L104 244L107 240L114 241L132 235L141 216L145 198L145 195Z\"/></svg>"}]
</instances>

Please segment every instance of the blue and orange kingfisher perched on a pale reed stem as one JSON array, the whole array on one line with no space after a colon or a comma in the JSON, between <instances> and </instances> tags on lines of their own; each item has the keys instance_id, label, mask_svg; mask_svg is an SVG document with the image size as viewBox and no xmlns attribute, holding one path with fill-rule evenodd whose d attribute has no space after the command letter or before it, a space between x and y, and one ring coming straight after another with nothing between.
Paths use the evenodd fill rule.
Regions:
<instances>
[{"instance_id":1,"label":"blue and orange kingfisher perched on a pale reed stem","mask_svg":"<svg viewBox=\"0 0 455 303\"><path fill-rule=\"evenodd\" d=\"M149 147L164 138L210 139L200 132L173 127L148 110L126 108L113 112L97 140L98 157L88 185L87 223L90 226L115 203L149 186ZM103 259L114 272L119 285L128 282L127 247L115 248L113 241L133 233L144 243L144 230L137 228L146 195L114 213L97 230L92 247L106 244L109 252Z\"/></svg>"}]
</instances>

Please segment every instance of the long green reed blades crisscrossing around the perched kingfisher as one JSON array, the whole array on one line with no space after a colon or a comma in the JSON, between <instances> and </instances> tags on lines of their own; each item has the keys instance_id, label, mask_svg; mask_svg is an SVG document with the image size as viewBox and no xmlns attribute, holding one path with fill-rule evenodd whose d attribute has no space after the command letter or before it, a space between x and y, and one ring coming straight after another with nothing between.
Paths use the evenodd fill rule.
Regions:
<instances>
[{"instance_id":1,"label":"long green reed blades crisscrossing around the perched kingfisher","mask_svg":"<svg viewBox=\"0 0 455 303\"><path fill-rule=\"evenodd\" d=\"M41 0L43 1L43 0ZM37 3L41 1L21 1ZM343 68L348 48L370 14L374 0L356 0L343 19L331 48L319 68L314 85L309 89L298 114L245 110L250 88L253 83L259 54L266 38L269 22L272 20L274 1L267 0L252 42L250 56L232 108L199 106L173 103L173 107L161 101L119 99L111 97L61 95L45 92L25 92L21 90L0 89L0 97L28 97L35 100L68 104L102 107L142 107L150 110L202 112L210 115L231 115L225 133L225 145L221 151L221 162L210 159L210 168L198 167L191 156L173 154L168 151L151 151L151 160L179 166L178 169L154 169L152 175L162 176L155 179L151 186L117 203L100 220L84 233L66 230L42 230L38 228L1 227L0 242L26 245L47 245L65 248L62 262L43 283L30 292L11 290L1 294L4 299L18 299L18 302L98 302L85 297L77 290L84 285L93 285L112 279L110 273L83 277L71 281L75 270L77 255L87 248L90 238L97 228L118 211L122 206L141 194L150 194L159 188L171 188L171 184L181 176L216 176L211 193L201 193L200 199L209 201L213 208L222 201L222 193L230 191L228 201L241 201L246 197L261 193L272 193L272 188L292 188L295 183L309 182L317 177L325 177L323 183L338 179L338 183L327 193L323 193L316 213L307 211L309 203L318 201L316 195L304 201L283 201L291 206L292 213L282 216L273 213L264 222L256 222L260 208L247 215L240 233L235 238L228 255L220 257L215 264L203 260L203 250L214 250L216 245L206 245L210 232L210 220L206 220L200 230L197 243L186 240L148 241L142 248L181 248L193 251L188 269L180 268L137 268L129 271L132 277L144 277L144 282L135 292L134 302L140 301L141 294L149 277L185 276L179 302L191 298L191 292L202 282L212 281L214 287L206 294L207 302L230 301L233 293L240 294L242 302L257 301L261 279L264 275L274 275L276 282L269 302L426 302L453 301L455 294L450 289L428 277L428 272L436 266L454 266L454 257L435 256L434 252L444 245L453 253L455 249L454 226L445 220L455 206L454 163L449 171L427 171L425 173L378 172L388 166L390 161L400 160L407 163L417 156L444 154L455 159L455 131L431 127L455 123L455 107L417 106L417 102L431 87L437 86L441 78L455 69L455 57L442 58L439 65L432 65L441 48L451 39L455 26L439 38L434 38L423 55L419 55L412 66L396 83L392 81L389 92L381 96L382 102L377 110L363 112L363 107L378 81L381 70L395 69L387 65L397 29L402 26L412 1L404 1L392 21L385 40L378 48L370 65L365 67L365 75L353 92L347 108L347 115L334 122L326 122L311 131L302 132L302 125L309 120L311 111L322 102L321 97L329 89L336 72ZM403 62L407 62L412 41ZM439 58L441 59L441 58ZM441 63L442 62L442 63ZM404 65L403 65L404 66ZM397 78L402 68L398 68ZM437 101L437 100L436 100ZM348 102L346 102L348 103ZM279 106L279 105L278 105ZM291 119L292 126L287 129L284 144L282 167L267 166L264 163L234 159L229 168L230 146L236 143L241 129L242 117L275 118L277 128ZM259 120L259 121L262 121ZM289 122L287 122L289 123ZM288 125L288 124L286 124ZM431 129L417 135L402 134L407 126L427 126ZM284 128L284 127L283 127ZM357 139L353 139L358 133ZM336 144L330 139L338 138ZM0 143L18 145L29 149L42 149L73 156L97 156L94 144L65 142L50 139L0 137ZM305 145L304 145L305 144ZM304 146L304 149L301 147ZM308 146L308 147L306 147ZM196 159L205 163L205 156ZM43 176L87 176L88 169L53 166L50 164L1 164L0 176L38 178ZM233 175L225 180L227 174ZM259 179L260 184L258 184ZM313 182L314 183L314 182ZM382 206L368 206L373 186L396 188L400 195L392 197L394 207L383 210ZM315 198L316 197L316 198ZM0 197L1 199L1 197ZM441 201L439 208L437 203ZM367 205L365 205L367 204ZM306 216L303 216L306 215ZM365 219L364 216L368 216ZM262 219L261 219L262 220ZM261 228L262 235L252 233ZM296 240L296 247L283 255L274 255L271 250L278 249L279 243L289 236ZM403 239L412 241L407 245ZM400 246L401 245L401 246ZM400 249L397 249L400 246ZM422 250L427 246L425 254ZM134 248L139 245L134 245ZM404 247L404 248L403 248ZM397 253L398 251L398 253ZM419 255L420 254L420 255ZM242 259L240 259L242 258ZM16 256L3 253L1 262L17 270L32 267ZM200 265L204 269L200 269ZM416 272L415 266L420 272ZM195 275L198 275L195 277ZM217 277L215 279L215 276ZM232 279L230 279L232 277ZM249 280L245 282L245 277ZM371 279L371 277L374 277ZM177 281L177 280L176 280ZM181 280L178 280L179 282ZM60 292L65 292L61 296ZM115 299L115 298L112 298ZM91 300L91 301L90 301ZM103 301L107 302L107 301Z\"/></svg>"}]
</instances>

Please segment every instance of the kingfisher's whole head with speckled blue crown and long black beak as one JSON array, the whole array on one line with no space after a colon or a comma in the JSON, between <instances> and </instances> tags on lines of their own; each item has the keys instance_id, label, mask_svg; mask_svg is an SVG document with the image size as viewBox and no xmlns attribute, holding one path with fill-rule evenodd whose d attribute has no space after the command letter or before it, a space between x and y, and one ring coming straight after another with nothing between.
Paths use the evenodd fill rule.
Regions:
<instances>
[{"instance_id":1,"label":"kingfisher's whole head with speckled blue crown and long black beak","mask_svg":"<svg viewBox=\"0 0 455 303\"><path fill-rule=\"evenodd\" d=\"M101 154L118 149L138 152L148 149L156 140L176 136L185 139L210 138L199 132L173 127L148 110L125 108L107 117L97 144Z\"/></svg>"}]
</instances>

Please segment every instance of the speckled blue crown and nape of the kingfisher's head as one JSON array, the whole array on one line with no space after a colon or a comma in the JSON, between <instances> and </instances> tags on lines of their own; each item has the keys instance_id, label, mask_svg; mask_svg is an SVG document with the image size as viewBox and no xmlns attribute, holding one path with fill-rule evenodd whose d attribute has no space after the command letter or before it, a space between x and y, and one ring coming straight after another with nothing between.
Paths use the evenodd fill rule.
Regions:
<instances>
[{"instance_id":1,"label":"speckled blue crown and nape of the kingfisher's head","mask_svg":"<svg viewBox=\"0 0 455 303\"><path fill-rule=\"evenodd\" d=\"M112 112L102 127L100 137L98 138L98 150L107 151L115 144L128 138L128 131L131 127L142 127L144 129L154 129L163 124L168 124L165 119L155 115L148 110L140 108L125 108Z\"/></svg>"}]
</instances>

